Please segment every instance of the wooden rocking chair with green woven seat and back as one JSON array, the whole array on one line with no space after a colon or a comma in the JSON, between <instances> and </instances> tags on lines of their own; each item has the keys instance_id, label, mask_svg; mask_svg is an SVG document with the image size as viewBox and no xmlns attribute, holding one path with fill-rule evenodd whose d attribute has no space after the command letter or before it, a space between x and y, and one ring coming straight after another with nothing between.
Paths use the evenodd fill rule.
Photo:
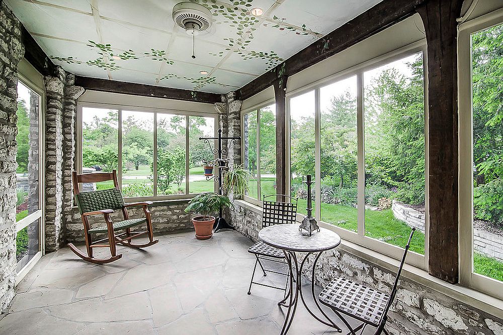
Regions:
<instances>
[{"instance_id":1,"label":"wooden rocking chair with green woven seat and back","mask_svg":"<svg viewBox=\"0 0 503 335\"><path fill-rule=\"evenodd\" d=\"M100 181L113 180L115 188L99 190L99 191L89 191L80 192L78 188L79 183L96 183ZM95 263L95 264L106 264L114 262L122 257L122 254L117 255L116 245L122 244L126 247L131 248L145 248L156 244L159 240L154 241L153 231L152 231L152 221L150 219L150 211L148 210L148 205L151 205L151 201L142 201L134 203L124 203L121 191L119 190L119 184L117 182L117 171L113 170L112 173L86 173L77 174L75 171L72 172L72 182L73 182L73 194L75 194L75 201L77 203L80 215L82 217L82 224L84 225L84 237L86 239L86 249L88 254L85 255L80 250L78 250L73 244L69 243L68 247L81 259ZM145 217L142 218L129 218L127 207L131 206L143 206L143 211ZM110 214L115 210L121 209L123 220L119 222L112 222ZM105 218L105 226L90 228L88 217L92 215L103 215ZM134 233L131 235L131 228L142 224L146 224L147 230L141 233ZM115 235L116 231L125 232ZM107 233L108 237L101 239L99 241L93 242L91 240L92 234ZM148 243L145 244L133 244L132 239L140 235L148 235ZM108 240L108 244L100 244ZM93 248L110 248L110 258L95 258L93 257Z\"/></svg>"}]
</instances>

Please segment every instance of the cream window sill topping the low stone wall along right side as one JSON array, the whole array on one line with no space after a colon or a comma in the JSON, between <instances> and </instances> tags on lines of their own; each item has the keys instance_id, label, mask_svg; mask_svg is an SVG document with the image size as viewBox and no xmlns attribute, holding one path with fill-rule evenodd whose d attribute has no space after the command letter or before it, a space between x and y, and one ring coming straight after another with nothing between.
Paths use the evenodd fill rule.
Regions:
<instances>
[{"instance_id":1,"label":"cream window sill topping the low stone wall along right side","mask_svg":"<svg viewBox=\"0 0 503 335\"><path fill-rule=\"evenodd\" d=\"M257 213L262 212L261 207L244 200L235 200L234 203L239 207L253 210ZM394 258L383 255L348 240L342 240L339 248L343 251L360 257L368 261L369 263L375 264L394 273L396 273L400 265L400 262ZM499 300L472 288L461 286L459 284L449 284L443 280L431 276L427 271L423 269L405 264L403 267L402 276L420 285L426 286L434 291L452 297L453 299L463 302L469 306L485 311L491 315L497 316L503 314L502 300Z\"/></svg>"}]
</instances>

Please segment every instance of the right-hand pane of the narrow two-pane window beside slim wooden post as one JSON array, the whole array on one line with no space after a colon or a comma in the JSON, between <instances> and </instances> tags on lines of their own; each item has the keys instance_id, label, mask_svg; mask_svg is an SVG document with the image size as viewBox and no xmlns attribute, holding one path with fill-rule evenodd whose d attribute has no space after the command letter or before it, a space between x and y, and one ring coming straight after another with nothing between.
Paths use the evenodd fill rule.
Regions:
<instances>
[{"instance_id":1,"label":"right-hand pane of the narrow two-pane window beside slim wooden post","mask_svg":"<svg viewBox=\"0 0 503 335\"><path fill-rule=\"evenodd\" d=\"M259 144L260 197L263 199L276 194L276 104L260 109Z\"/></svg>"}]
</instances>

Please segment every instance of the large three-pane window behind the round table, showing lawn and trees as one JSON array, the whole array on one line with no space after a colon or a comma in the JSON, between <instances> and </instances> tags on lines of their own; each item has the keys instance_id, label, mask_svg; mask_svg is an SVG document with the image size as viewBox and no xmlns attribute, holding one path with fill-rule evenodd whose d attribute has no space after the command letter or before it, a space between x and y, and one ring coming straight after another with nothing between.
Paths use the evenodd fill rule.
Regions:
<instances>
[{"instance_id":1,"label":"large three-pane window behind the round table, showing lawn and trees","mask_svg":"<svg viewBox=\"0 0 503 335\"><path fill-rule=\"evenodd\" d=\"M355 243L426 268L424 47L397 51L288 96L290 191L315 176L315 217ZM392 245L392 246L390 246Z\"/></svg>"}]
</instances>

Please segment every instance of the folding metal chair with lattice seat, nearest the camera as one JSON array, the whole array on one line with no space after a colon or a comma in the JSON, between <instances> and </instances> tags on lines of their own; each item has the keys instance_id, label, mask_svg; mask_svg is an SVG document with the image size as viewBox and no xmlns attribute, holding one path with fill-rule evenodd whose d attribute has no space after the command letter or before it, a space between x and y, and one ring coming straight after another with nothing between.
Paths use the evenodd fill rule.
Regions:
<instances>
[{"instance_id":1,"label":"folding metal chair with lattice seat, nearest the camera","mask_svg":"<svg viewBox=\"0 0 503 335\"><path fill-rule=\"evenodd\" d=\"M390 294L380 292L376 289L353 282L345 278L333 279L318 295L319 301L330 307L334 313L346 324L350 332L347 335L356 335L357 331L363 334L365 327L371 325L376 328L374 335L383 332L389 335L384 326L388 320L388 311L396 295L398 279L402 272L405 257L410 247L410 241L414 235L415 228L412 228L410 236L403 252L402 261L395 282ZM342 314L349 315L362 323L353 328Z\"/></svg>"}]
</instances>

